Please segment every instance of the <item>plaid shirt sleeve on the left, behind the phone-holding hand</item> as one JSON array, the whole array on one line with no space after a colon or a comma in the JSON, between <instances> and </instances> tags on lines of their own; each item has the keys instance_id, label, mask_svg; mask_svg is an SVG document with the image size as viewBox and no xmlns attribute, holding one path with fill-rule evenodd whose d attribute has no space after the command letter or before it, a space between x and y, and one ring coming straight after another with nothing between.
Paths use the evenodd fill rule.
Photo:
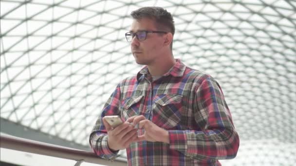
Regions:
<instances>
[{"instance_id":1,"label":"plaid shirt sleeve on the left, behind the phone-holding hand","mask_svg":"<svg viewBox=\"0 0 296 166\"><path fill-rule=\"evenodd\" d=\"M89 138L90 146L94 151L94 153L99 157L102 157L111 161L114 160L119 155L117 155L118 151L112 152L111 149L109 149L109 146L107 143L108 134L105 129L104 123L102 121L102 118L104 116L113 116L113 115L120 116L120 97L121 97L120 85L117 85L111 97L105 103L103 111L101 112L100 116L96 120L96 123L92 129L92 132Z\"/></svg>"}]
</instances>

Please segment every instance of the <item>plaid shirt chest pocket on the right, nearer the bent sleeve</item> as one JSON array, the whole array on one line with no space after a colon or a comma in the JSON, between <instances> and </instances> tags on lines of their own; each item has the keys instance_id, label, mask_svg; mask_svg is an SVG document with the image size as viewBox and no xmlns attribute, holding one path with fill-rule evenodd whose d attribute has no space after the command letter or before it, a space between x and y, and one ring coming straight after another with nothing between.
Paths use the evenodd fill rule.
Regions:
<instances>
[{"instance_id":1,"label":"plaid shirt chest pocket on the right, nearer the bent sleeve","mask_svg":"<svg viewBox=\"0 0 296 166\"><path fill-rule=\"evenodd\" d=\"M178 94L156 96L153 106L153 122L164 129L178 129L183 110L182 98L183 96Z\"/></svg>"}]
</instances>

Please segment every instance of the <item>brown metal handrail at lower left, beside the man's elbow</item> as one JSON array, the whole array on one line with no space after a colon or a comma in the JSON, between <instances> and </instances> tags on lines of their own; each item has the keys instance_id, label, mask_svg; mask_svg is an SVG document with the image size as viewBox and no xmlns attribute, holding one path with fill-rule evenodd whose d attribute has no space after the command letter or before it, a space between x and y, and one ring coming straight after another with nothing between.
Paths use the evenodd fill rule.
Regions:
<instances>
[{"instance_id":1,"label":"brown metal handrail at lower left, beside the man's elbow","mask_svg":"<svg viewBox=\"0 0 296 166\"><path fill-rule=\"evenodd\" d=\"M99 158L91 151L73 149L54 144L48 144L30 139L20 138L4 133L0 133L0 147L6 149L14 149L52 157L64 158L77 161L75 166L80 166L82 162L100 164L100 165L115 165L127 166L127 160L117 158L112 163L108 160Z\"/></svg>"}]
</instances>

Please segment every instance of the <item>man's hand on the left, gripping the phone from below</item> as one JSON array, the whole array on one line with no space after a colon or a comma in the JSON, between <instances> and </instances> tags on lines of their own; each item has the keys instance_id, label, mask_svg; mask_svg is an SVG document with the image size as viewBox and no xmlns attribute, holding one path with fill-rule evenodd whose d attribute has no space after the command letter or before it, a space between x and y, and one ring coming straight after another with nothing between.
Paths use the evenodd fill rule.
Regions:
<instances>
[{"instance_id":1,"label":"man's hand on the left, gripping the phone from below","mask_svg":"<svg viewBox=\"0 0 296 166\"><path fill-rule=\"evenodd\" d=\"M108 133L108 146L112 151L126 149L130 143L137 139L138 129L134 129L134 126L129 124L129 119L115 129L111 127L104 117L103 123Z\"/></svg>"}]
</instances>

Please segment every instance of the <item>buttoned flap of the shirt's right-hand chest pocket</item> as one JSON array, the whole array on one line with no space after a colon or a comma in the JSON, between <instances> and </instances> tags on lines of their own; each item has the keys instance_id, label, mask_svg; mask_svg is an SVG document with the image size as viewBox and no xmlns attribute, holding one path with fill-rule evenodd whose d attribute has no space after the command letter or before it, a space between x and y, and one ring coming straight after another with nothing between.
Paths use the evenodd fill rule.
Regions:
<instances>
[{"instance_id":1,"label":"buttoned flap of the shirt's right-hand chest pocket","mask_svg":"<svg viewBox=\"0 0 296 166\"><path fill-rule=\"evenodd\" d=\"M156 97L155 103L165 106L167 104L180 103L183 96L178 94L163 94Z\"/></svg>"}]
</instances>

